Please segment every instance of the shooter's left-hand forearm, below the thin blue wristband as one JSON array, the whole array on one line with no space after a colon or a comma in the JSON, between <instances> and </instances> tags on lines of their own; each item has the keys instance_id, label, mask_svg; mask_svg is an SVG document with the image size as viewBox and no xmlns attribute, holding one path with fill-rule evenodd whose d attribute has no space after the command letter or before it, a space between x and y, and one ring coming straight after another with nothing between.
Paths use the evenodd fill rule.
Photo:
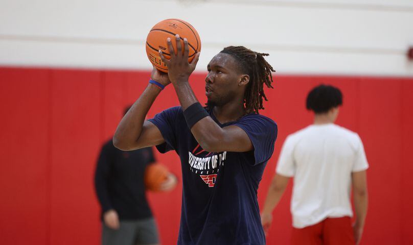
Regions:
<instances>
[{"instance_id":1,"label":"shooter's left-hand forearm, below the thin blue wristband","mask_svg":"<svg viewBox=\"0 0 413 245\"><path fill-rule=\"evenodd\" d=\"M149 84L128 113L125 114L113 135L113 145L116 148L124 151L136 148L136 142L141 135L146 114L159 92L158 87Z\"/></svg>"}]
</instances>

